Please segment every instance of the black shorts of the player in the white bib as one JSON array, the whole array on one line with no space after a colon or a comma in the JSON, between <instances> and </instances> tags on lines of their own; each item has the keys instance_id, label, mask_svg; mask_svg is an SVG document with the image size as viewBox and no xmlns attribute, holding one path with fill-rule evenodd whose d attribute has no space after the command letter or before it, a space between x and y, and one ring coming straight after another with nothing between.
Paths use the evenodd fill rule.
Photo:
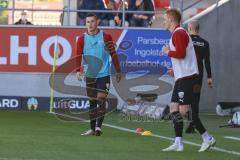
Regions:
<instances>
[{"instance_id":1,"label":"black shorts of the player in the white bib","mask_svg":"<svg viewBox=\"0 0 240 160\"><path fill-rule=\"evenodd\" d=\"M179 79L175 82L171 102L180 105L191 105L194 100L194 93L199 92L198 78Z\"/></svg>"}]
</instances>

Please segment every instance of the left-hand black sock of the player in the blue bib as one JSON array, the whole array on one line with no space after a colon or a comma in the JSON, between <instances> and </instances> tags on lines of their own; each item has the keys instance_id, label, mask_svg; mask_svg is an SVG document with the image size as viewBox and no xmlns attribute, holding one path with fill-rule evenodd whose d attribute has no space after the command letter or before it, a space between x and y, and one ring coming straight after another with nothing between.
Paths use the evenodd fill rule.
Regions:
<instances>
[{"instance_id":1,"label":"left-hand black sock of the player in the blue bib","mask_svg":"<svg viewBox=\"0 0 240 160\"><path fill-rule=\"evenodd\" d=\"M90 111L89 111L90 127L93 131L95 131L96 118L97 118L97 101L96 100L89 100L89 101L90 101Z\"/></svg>"}]
</instances>

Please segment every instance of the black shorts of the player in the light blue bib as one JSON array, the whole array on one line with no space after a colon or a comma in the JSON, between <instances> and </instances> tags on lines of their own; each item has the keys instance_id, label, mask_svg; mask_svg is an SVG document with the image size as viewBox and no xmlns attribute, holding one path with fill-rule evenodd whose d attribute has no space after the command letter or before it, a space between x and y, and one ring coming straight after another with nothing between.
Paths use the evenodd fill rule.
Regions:
<instances>
[{"instance_id":1,"label":"black shorts of the player in the light blue bib","mask_svg":"<svg viewBox=\"0 0 240 160\"><path fill-rule=\"evenodd\" d=\"M110 76L101 78L89 78L86 77L87 92L109 92L110 88Z\"/></svg>"}]
</instances>

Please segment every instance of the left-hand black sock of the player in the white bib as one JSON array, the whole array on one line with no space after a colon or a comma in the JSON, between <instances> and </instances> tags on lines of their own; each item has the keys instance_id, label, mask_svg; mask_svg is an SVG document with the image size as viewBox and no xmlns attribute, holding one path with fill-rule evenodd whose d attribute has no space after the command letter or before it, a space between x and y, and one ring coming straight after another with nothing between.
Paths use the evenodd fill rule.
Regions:
<instances>
[{"instance_id":1,"label":"left-hand black sock of the player in the white bib","mask_svg":"<svg viewBox=\"0 0 240 160\"><path fill-rule=\"evenodd\" d=\"M174 130L175 130L175 136L176 137L182 137L183 132L183 118L179 111L173 112L171 114L171 119L173 120Z\"/></svg>"}]
</instances>

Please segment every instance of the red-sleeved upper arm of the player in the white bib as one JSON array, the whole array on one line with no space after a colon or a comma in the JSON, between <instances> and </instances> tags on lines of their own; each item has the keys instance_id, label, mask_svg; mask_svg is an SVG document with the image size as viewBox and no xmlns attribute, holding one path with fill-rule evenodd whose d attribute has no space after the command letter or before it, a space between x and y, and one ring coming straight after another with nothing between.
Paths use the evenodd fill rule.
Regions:
<instances>
[{"instance_id":1,"label":"red-sleeved upper arm of the player in the white bib","mask_svg":"<svg viewBox=\"0 0 240 160\"><path fill-rule=\"evenodd\" d=\"M177 31L172 37L173 45L176 51L169 50L168 56L178 59L183 59L186 57L186 49L189 42L189 36L185 31Z\"/></svg>"}]
</instances>

